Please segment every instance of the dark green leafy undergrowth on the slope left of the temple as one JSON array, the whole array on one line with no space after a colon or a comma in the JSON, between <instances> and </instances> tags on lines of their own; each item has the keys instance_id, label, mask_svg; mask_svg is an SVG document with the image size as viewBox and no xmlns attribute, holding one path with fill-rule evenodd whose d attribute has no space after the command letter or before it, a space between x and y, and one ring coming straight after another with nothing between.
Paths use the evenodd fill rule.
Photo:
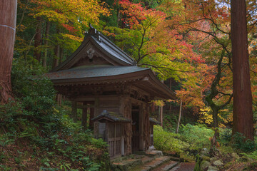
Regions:
<instances>
[{"instance_id":1,"label":"dark green leafy undergrowth on the slope left of the temple","mask_svg":"<svg viewBox=\"0 0 257 171\"><path fill-rule=\"evenodd\" d=\"M15 98L0 106L0 170L109 170L106 142L56 105L44 68L14 59L11 74Z\"/></svg>"}]
</instances>

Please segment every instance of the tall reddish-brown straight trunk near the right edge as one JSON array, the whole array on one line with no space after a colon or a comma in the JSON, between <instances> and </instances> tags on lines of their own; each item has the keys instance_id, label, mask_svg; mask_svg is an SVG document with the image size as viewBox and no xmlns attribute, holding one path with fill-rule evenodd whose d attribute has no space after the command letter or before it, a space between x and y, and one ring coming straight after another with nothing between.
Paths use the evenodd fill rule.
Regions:
<instances>
[{"instance_id":1,"label":"tall reddish-brown straight trunk near the right edge","mask_svg":"<svg viewBox=\"0 0 257 171\"><path fill-rule=\"evenodd\" d=\"M253 105L248 57L246 1L231 0L233 133L253 140Z\"/></svg>"}]
</instances>

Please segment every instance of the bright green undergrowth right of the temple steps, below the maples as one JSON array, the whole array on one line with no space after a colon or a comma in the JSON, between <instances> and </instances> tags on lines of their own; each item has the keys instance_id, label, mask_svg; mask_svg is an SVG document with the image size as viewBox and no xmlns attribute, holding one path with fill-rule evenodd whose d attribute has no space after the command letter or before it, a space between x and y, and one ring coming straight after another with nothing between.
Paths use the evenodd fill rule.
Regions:
<instances>
[{"instance_id":1,"label":"bright green undergrowth right of the temple steps, below the maples","mask_svg":"<svg viewBox=\"0 0 257 171\"><path fill-rule=\"evenodd\" d=\"M186 123L184 116L178 133L175 133L176 115L166 113L163 127L154 125L154 147L164 154L181 157L186 162L197 162L203 149L215 149L209 157L218 157L223 161L222 170L256 170L257 169L257 139L246 140L242 134L232 135L230 128L219 128L220 138L213 146L214 130L199 123ZM235 157L236 155L236 157ZM197 168L196 168L197 170Z\"/></svg>"}]
</instances>

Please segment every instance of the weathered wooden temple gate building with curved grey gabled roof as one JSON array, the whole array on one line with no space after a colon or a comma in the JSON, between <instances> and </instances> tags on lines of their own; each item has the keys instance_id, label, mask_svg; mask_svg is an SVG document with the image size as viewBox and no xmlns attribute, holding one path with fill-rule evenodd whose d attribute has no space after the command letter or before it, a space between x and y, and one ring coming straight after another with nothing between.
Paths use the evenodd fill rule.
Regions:
<instances>
[{"instance_id":1,"label":"weathered wooden temple gate building with curved grey gabled roof","mask_svg":"<svg viewBox=\"0 0 257 171\"><path fill-rule=\"evenodd\" d=\"M111 158L147 150L153 144L151 100L175 98L151 68L136 66L93 27L81 46L48 76L58 93L72 101L75 121L77 108L82 108L82 125L90 120L95 137L108 142Z\"/></svg>"}]
</instances>

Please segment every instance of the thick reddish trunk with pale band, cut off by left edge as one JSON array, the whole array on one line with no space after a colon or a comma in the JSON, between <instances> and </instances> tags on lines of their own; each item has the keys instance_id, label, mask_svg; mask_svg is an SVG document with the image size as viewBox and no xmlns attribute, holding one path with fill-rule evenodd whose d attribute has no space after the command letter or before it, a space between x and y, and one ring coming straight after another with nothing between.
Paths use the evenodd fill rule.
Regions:
<instances>
[{"instance_id":1,"label":"thick reddish trunk with pale band, cut off by left edge","mask_svg":"<svg viewBox=\"0 0 257 171\"><path fill-rule=\"evenodd\" d=\"M11 63L14 56L17 0L0 0L0 103L12 98Z\"/></svg>"}]
</instances>

